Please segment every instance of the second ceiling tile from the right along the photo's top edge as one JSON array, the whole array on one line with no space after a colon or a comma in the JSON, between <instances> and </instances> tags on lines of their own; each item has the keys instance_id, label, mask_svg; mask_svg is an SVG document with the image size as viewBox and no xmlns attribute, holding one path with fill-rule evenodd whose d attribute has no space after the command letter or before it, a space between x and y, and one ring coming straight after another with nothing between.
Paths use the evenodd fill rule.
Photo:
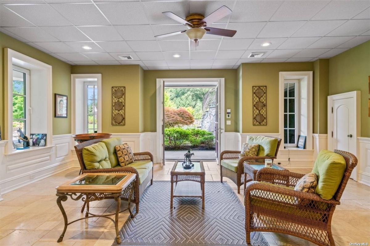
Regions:
<instances>
[{"instance_id":1,"label":"second ceiling tile from the right along the photo's top edge","mask_svg":"<svg viewBox=\"0 0 370 246\"><path fill-rule=\"evenodd\" d=\"M310 20L330 1L285 1L275 12L270 21Z\"/></svg>"}]
</instances>

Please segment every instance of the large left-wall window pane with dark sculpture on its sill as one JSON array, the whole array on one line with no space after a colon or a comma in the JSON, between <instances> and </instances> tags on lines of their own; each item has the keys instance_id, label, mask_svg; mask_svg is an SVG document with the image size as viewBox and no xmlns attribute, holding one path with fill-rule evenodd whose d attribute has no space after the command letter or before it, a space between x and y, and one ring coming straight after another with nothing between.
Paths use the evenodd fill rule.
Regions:
<instances>
[{"instance_id":1,"label":"large left-wall window pane with dark sculpture on its sill","mask_svg":"<svg viewBox=\"0 0 370 246\"><path fill-rule=\"evenodd\" d=\"M23 147L19 138L30 130L30 71L13 66L13 146Z\"/></svg>"}]
</instances>

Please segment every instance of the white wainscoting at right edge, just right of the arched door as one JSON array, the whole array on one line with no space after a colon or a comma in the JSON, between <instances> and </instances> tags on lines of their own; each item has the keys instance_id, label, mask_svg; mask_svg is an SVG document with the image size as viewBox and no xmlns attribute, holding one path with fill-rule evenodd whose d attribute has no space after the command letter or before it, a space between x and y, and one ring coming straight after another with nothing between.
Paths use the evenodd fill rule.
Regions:
<instances>
[{"instance_id":1,"label":"white wainscoting at right edge, just right of the arched door","mask_svg":"<svg viewBox=\"0 0 370 246\"><path fill-rule=\"evenodd\" d=\"M370 137L358 137L358 182L370 186Z\"/></svg>"}]
</instances>

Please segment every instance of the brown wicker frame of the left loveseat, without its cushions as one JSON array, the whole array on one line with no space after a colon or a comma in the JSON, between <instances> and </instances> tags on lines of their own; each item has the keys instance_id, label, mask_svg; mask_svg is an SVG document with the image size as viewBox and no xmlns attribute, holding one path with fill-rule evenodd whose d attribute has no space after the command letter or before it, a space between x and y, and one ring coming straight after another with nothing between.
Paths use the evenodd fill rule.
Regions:
<instances>
[{"instance_id":1,"label":"brown wicker frame of the left loveseat, without its cushions","mask_svg":"<svg viewBox=\"0 0 370 246\"><path fill-rule=\"evenodd\" d=\"M136 174L136 184L135 184L135 191L134 191L134 202L136 204L136 213L139 212L139 201L144 193L145 188L147 188L149 181L150 184L153 184L153 168L152 171L149 172L149 175L145 180L139 184L139 173L133 167L113 167L113 168L101 168L101 169L86 169L84 160L82 158L82 149L86 146L89 146L94 143L98 143L103 139L93 139L89 141L85 141L83 143L77 144L74 146L76 150L76 155L78 158L78 162L80 163L82 173L94 173L94 172L131 172ZM153 162L153 155L150 152L140 152L134 153L134 161L152 161ZM124 192L121 196L121 200L128 201L128 192ZM85 203L86 204L86 203ZM81 209L81 213L85 209L85 204Z\"/></svg>"}]
</instances>

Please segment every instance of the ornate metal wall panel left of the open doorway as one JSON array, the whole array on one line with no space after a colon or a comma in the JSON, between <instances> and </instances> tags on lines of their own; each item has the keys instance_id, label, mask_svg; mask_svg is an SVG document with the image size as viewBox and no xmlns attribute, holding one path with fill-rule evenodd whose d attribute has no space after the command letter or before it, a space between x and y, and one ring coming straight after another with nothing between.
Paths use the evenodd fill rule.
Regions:
<instances>
[{"instance_id":1,"label":"ornate metal wall panel left of the open doorway","mask_svg":"<svg viewBox=\"0 0 370 246\"><path fill-rule=\"evenodd\" d=\"M125 86L112 87L112 126L125 125Z\"/></svg>"}]
</instances>

